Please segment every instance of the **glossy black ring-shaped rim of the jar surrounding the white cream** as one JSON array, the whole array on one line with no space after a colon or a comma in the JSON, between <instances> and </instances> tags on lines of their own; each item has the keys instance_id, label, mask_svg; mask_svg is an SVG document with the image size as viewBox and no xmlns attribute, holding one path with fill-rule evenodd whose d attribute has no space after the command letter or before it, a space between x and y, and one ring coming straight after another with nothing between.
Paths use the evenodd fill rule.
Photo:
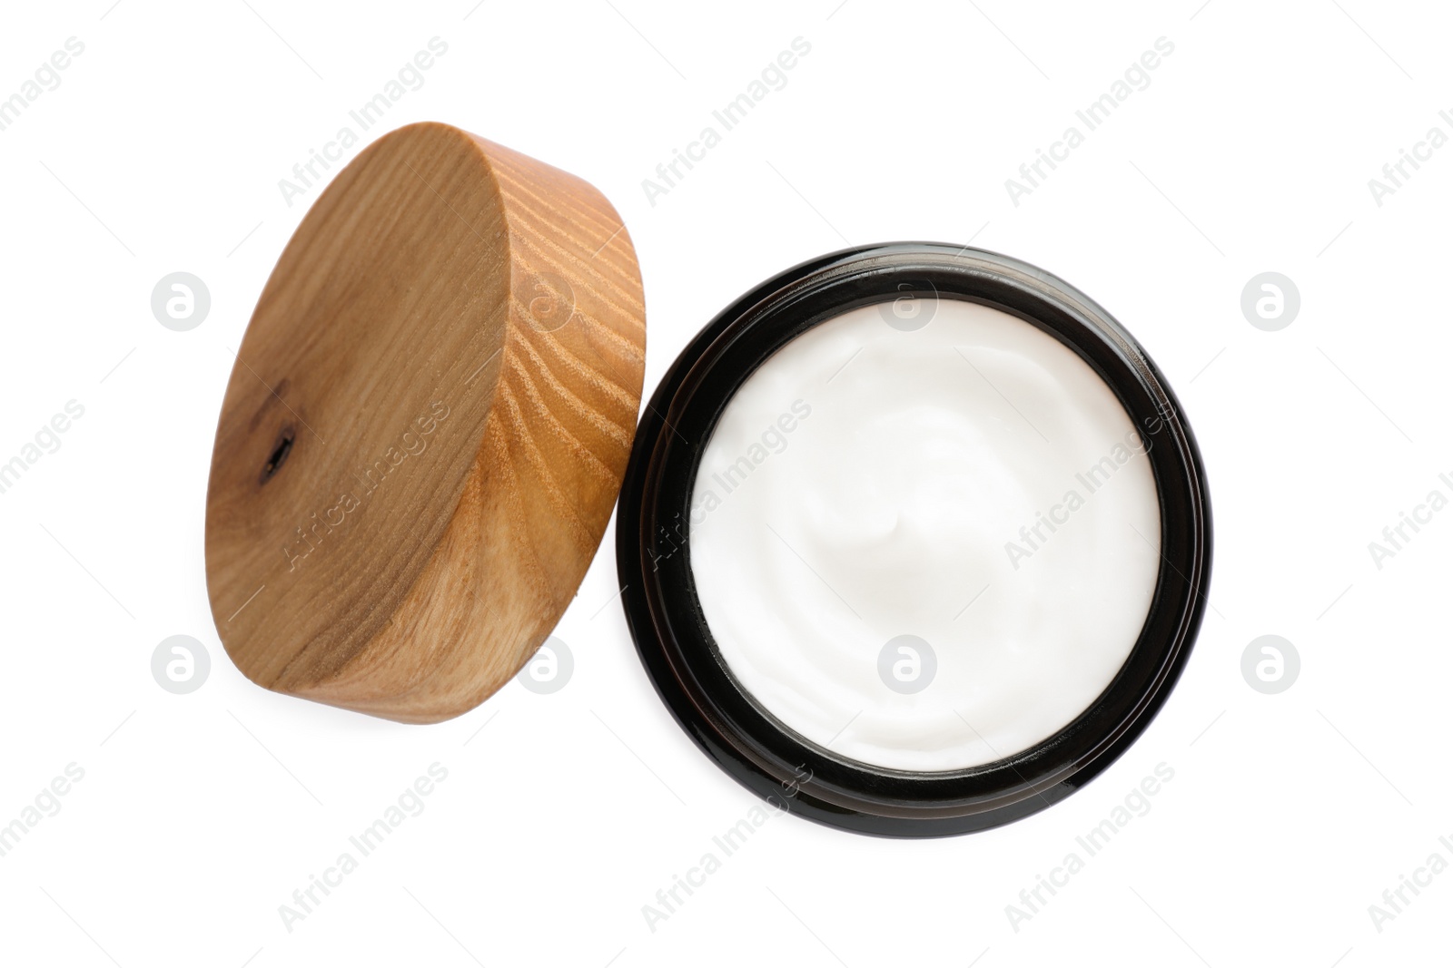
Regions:
<instances>
[{"instance_id":1,"label":"glossy black ring-shaped rim of the jar surrounding the white cream","mask_svg":"<svg viewBox=\"0 0 1453 968\"><path fill-rule=\"evenodd\" d=\"M722 659L696 594L687 541L695 475L726 403L806 329L905 295L960 299L1029 322L1082 358L1146 443L1161 517L1157 588L1125 665L1078 717L1016 755L943 772L843 758L785 726ZM667 708L732 778L777 808L859 833L984 830L1068 797L1119 758L1165 702L1190 656L1210 576L1210 499L1180 403L1144 347L1069 283L1020 260L943 242L830 253L761 283L680 353L642 412L620 489L616 567L641 662Z\"/></svg>"}]
</instances>

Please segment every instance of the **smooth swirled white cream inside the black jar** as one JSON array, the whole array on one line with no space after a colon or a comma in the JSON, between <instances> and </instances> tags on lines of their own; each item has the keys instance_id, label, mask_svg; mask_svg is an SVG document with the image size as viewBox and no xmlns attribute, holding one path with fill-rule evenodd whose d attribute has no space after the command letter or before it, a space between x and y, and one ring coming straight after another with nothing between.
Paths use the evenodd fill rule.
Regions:
<instances>
[{"instance_id":1,"label":"smooth swirled white cream inside the black jar","mask_svg":"<svg viewBox=\"0 0 1453 968\"><path fill-rule=\"evenodd\" d=\"M907 308L933 316L854 309L748 377L702 457L690 562L763 708L849 759L947 771L1104 691L1149 611L1159 511L1074 351L987 306Z\"/></svg>"}]
</instances>

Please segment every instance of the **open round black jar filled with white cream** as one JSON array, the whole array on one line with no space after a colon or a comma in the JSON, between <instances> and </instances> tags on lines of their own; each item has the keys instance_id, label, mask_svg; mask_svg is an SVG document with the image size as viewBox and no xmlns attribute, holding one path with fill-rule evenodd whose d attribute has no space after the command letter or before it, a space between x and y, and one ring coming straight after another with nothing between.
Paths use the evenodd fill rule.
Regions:
<instances>
[{"instance_id":1,"label":"open round black jar filled with white cream","mask_svg":"<svg viewBox=\"0 0 1453 968\"><path fill-rule=\"evenodd\" d=\"M891 244L738 299L645 409L616 521L642 663L758 795L885 836L1042 810L1145 729L1205 610L1200 454L1110 315Z\"/></svg>"}]
</instances>

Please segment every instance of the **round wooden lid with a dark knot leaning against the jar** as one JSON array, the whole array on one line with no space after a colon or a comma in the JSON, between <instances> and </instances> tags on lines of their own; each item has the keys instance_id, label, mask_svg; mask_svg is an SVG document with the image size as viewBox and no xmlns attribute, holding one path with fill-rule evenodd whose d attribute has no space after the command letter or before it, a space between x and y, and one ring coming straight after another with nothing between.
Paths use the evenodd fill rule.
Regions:
<instances>
[{"instance_id":1,"label":"round wooden lid with a dark knot leaning against the jar","mask_svg":"<svg viewBox=\"0 0 1453 968\"><path fill-rule=\"evenodd\" d=\"M448 125L368 147L222 401L206 578L232 662L408 723L482 702L586 575L644 366L635 251L590 184Z\"/></svg>"}]
</instances>

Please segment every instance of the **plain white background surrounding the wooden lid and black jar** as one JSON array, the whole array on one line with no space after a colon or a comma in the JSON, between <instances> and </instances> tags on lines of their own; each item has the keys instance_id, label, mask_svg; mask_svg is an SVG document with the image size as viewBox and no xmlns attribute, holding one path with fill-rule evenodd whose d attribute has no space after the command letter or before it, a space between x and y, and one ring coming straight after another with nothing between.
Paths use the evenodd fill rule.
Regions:
<instances>
[{"instance_id":1,"label":"plain white background surrounding the wooden lid and black jar","mask_svg":"<svg viewBox=\"0 0 1453 968\"><path fill-rule=\"evenodd\" d=\"M7 964L1446 961L1453 874L1382 932L1367 907L1434 850L1453 861L1438 845L1453 512L1380 570L1367 543L1433 488L1453 493L1437 479L1453 470L1453 148L1382 206L1367 180L1430 126L1453 134L1437 115L1453 109L1447 16L837 1L7 12L0 97L67 38L86 45L0 132L0 462L67 401L86 408L0 495L0 824L84 769L0 858ZM974 239L1136 334L1200 438L1216 563L1186 675L1114 766L1052 810L949 840L773 819L652 932L642 906L756 801L657 701L615 601L613 533L556 630L575 656L556 694L511 684L404 727L231 666L206 604L203 495L228 347L317 197L289 208L278 181L433 36L448 54L386 126L448 120L612 199L641 257L648 390L738 293L844 244ZM796 36L812 49L788 86L649 205L642 179ZM1013 205L1004 180L1161 36L1174 54L1151 86ZM212 295L190 332L150 309L177 270ZM1302 295L1279 332L1239 308L1266 270ZM1280 695L1239 670L1268 633L1302 656ZM151 678L173 634L211 653L190 695ZM449 776L424 813L289 932L279 906L434 762ZM1174 779L1152 810L1014 930L1005 906L1162 762Z\"/></svg>"}]
</instances>

